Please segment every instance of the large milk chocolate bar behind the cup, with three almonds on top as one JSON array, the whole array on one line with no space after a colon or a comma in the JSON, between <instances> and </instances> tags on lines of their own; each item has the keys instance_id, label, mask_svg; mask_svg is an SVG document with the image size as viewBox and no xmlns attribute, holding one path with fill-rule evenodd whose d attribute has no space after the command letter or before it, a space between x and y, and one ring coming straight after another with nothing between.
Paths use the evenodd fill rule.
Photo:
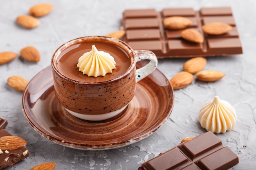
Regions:
<instances>
[{"instance_id":1,"label":"large milk chocolate bar behind the cup, with three almonds on top","mask_svg":"<svg viewBox=\"0 0 256 170\"><path fill-rule=\"evenodd\" d=\"M181 30L169 30L163 26L163 20L171 16L189 18L192 23L187 28L196 29L204 36L204 42L193 43L181 37ZM224 22L232 30L222 35L207 35L202 25L212 22ZM124 41L134 50L153 51L158 58L167 57L206 57L216 55L242 54L242 45L230 7L167 8L161 12L155 9L130 9L123 13L122 25L126 31ZM186 29L187 29L186 28Z\"/></svg>"}]
</instances>

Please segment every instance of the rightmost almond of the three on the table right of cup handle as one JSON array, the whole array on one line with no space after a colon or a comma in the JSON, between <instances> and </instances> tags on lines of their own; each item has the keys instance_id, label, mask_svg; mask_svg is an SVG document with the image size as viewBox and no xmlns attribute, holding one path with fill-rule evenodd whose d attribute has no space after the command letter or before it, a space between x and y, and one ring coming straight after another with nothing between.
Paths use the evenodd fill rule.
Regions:
<instances>
[{"instance_id":1,"label":"rightmost almond of the three on the table right of cup handle","mask_svg":"<svg viewBox=\"0 0 256 170\"><path fill-rule=\"evenodd\" d=\"M196 73L196 77L204 82L215 82L225 75L225 73L214 70L203 70Z\"/></svg>"}]
</instances>

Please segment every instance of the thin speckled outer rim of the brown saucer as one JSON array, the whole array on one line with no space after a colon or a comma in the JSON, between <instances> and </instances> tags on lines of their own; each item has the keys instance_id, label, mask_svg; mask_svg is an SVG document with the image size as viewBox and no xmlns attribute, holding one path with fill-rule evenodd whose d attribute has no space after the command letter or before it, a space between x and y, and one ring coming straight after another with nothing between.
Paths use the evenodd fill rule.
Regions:
<instances>
[{"instance_id":1,"label":"thin speckled outer rim of the brown saucer","mask_svg":"<svg viewBox=\"0 0 256 170\"><path fill-rule=\"evenodd\" d=\"M40 71L39 73L42 73L42 72L44 72L44 71L47 71L47 69L50 69L49 68L50 66L47 66L46 68L44 68L42 71ZM166 78L166 76L161 72L161 71L159 71L158 69L155 69L155 71L157 71L157 72L159 72L166 80L168 80L167 78ZM36 74L32 79L31 79L31 81L32 80L34 80L36 77L38 77L38 76L40 76L39 75L39 73L38 74ZM49 75L50 76L50 75ZM150 76L150 75L149 75ZM30 81L30 82L31 82ZM143 81L143 79L141 80L141 81ZM153 81L152 79L150 79L149 81ZM30 82L29 82L29 84L30 84ZM163 126L163 124L167 121L167 119L170 117L170 115L171 115L171 113L172 113L172 110L173 110L173 106L174 106L174 91L173 91L173 87L171 86L171 83L169 82L169 81L167 81L168 82L168 85L166 85L166 86L168 86L168 87L170 87L170 88L168 88L169 89L169 91L172 93L172 99L169 99L168 100L168 102L171 102L171 104L170 104L170 108L169 109L167 109L167 110L164 110L163 111L163 113L162 114L166 114L166 117L164 117L161 121L159 121L159 124L158 125L155 125L155 126L153 126L152 128L146 128L146 132L143 132L143 134L141 134L141 135L139 135L139 133L137 134L137 136L136 137L133 137L133 138L131 138L131 139L126 139L126 140L122 140L122 141L119 141L119 142L116 142L116 143L110 143L110 144L105 144L104 146L99 146L99 145L92 145L92 144L76 144L76 143L71 143L71 142L69 142L69 141L63 141L63 140L61 140L61 139L57 139L56 137L53 137L53 136L51 136L51 135L49 135L49 134L47 134L47 132L45 132L44 130L45 130L45 128L43 127L43 126L36 126L36 122L33 122L34 121L34 119L32 119L32 120L30 120L29 119L29 116L27 115L28 113L26 112L26 110L25 110L25 101L26 101L26 99L25 99L25 94L26 93L28 93L27 91L29 90L28 88L29 88L29 84L28 84L28 86L26 87L26 89L25 89L25 91L24 91L24 93L23 93L23 96L22 96L22 111L23 111L23 114L24 114L24 116L25 116L25 119L28 121L28 123L29 123L29 125L38 133L38 134L40 134L40 135L42 135L43 137L45 137L46 139L48 139L48 140L50 140L50 141L52 141L52 142L54 142L54 143L56 143L56 144L59 144L59 145L62 145L62 146L66 146L66 147L69 147L69 148L74 148L74 149L79 149L79 150L108 150L108 149L114 149L114 148L120 148L120 147L124 147L124 146L128 146L128 145L130 145L130 144L134 144L134 143L136 143L136 142L138 142L138 141L141 141L142 139L145 139L146 137L148 137L148 136L150 136L150 135L152 135L156 130L158 130L160 127L162 127ZM50 88L52 88L52 86L53 86L53 79L52 79L52 81L51 81L51 83L52 83L52 85L51 86L49 86L49 84L47 84L49 87L44 91L44 93L47 91L47 90L49 90ZM159 84L158 84L158 86L160 86ZM40 96L42 96L42 95L40 95ZM166 96L164 96L164 97L166 97ZM172 100L172 101L171 101ZM168 113L167 113L168 112Z\"/></svg>"}]
</instances>

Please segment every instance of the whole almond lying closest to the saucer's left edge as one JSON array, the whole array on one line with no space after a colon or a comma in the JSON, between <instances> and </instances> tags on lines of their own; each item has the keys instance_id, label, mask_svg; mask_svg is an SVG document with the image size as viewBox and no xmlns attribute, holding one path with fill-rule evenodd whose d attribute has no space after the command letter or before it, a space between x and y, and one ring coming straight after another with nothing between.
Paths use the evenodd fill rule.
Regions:
<instances>
[{"instance_id":1,"label":"whole almond lying closest to the saucer's left edge","mask_svg":"<svg viewBox=\"0 0 256 170\"><path fill-rule=\"evenodd\" d=\"M21 92L25 90L28 83L29 82L25 78L18 75L13 75L7 79L7 84L9 84L9 86Z\"/></svg>"}]
</instances>

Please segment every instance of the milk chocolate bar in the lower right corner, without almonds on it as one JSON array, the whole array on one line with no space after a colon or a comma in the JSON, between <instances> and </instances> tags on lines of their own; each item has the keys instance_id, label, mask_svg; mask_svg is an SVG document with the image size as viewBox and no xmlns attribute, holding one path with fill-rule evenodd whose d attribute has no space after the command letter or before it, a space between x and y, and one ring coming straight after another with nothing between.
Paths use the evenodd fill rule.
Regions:
<instances>
[{"instance_id":1,"label":"milk chocolate bar in the lower right corner, without almonds on it","mask_svg":"<svg viewBox=\"0 0 256 170\"><path fill-rule=\"evenodd\" d=\"M238 156L208 131L142 164L139 170L227 170Z\"/></svg>"}]
</instances>

